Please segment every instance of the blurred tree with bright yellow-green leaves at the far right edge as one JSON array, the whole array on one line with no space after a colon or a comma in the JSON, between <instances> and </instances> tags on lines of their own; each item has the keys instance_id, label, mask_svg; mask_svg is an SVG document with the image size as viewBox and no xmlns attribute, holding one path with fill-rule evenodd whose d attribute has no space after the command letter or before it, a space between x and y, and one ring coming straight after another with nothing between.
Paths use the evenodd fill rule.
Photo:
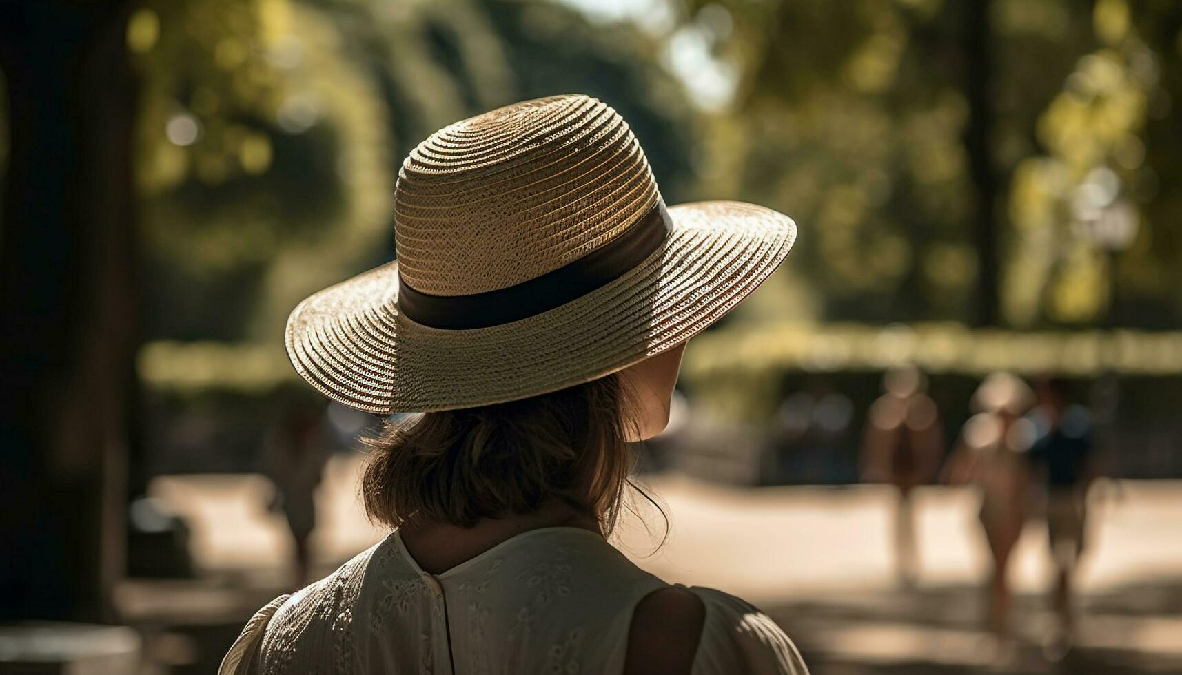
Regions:
<instances>
[{"instance_id":1,"label":"blurred tree with bright yellow-green leaves at the far right edge","mask_svg":"<svg viewBox=\"0 0 1182 675\"><path fill-rule=\"evenodd\" d=\"M1017 163L1007 316L1176 326L1182 195L1170 180L1176 124L1163 118L1178 91L1182 7L1099 0L1083 20L1089 51L1037 119L1039 151Z\"/></svg>"}]
</instances>

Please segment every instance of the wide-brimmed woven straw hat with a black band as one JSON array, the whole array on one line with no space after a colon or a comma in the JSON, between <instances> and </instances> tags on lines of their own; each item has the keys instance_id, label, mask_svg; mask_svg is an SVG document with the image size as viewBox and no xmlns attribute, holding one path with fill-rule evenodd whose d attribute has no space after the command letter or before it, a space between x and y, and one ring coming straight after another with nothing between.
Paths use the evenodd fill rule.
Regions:
<instances>
[{"instance_id":1,"label":"wide-brimmed woven straw hat with a black band","mask_svg":"<svg viewBox=\"0 0 1182 675\"><path fill-rule=\"evenodd\" d=\"M665 208L628 123L586 96L446 126L402 164L398 259L307 298L287 355L372 413L469 408L589 382L694 336L788 254L792 219Z\"/></svg>"}]
</instances>

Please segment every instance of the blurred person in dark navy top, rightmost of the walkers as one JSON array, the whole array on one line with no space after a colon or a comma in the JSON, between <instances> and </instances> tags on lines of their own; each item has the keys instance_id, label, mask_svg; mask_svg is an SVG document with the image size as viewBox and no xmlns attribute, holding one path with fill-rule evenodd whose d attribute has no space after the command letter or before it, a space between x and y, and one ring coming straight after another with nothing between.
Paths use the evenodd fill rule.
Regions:
<instances>
[{"instance_id":1,"label":"blurred person in dark navy top, rightmost of the walkers","mask_svg":"<svg viewBox=\"0 0 1182 675\"><path fill-rule=\"evenodd\" d=\"M1045 494L1046 528L1056 566L1053 605L1059 618L1052 644L1070 647L1074 635L1071 579L1084 551L1087 488L1099 476L1092 443L1092 416L1069 404L1067 387L1056 377L1034 384L1038 404L1030 414L1034 442L1028 456Z\"/></svg>"}]
</instances>

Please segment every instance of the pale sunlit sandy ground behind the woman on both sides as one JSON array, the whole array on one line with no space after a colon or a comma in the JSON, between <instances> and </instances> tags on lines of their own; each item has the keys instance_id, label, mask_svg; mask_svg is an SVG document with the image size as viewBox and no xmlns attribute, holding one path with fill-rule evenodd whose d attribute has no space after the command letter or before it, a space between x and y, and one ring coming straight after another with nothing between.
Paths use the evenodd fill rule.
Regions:
<instances>
[{"instance_id":1,"label":"pale sunlit sandy ground behind the woman on both sides","mask_svg":"<svg viewBox=\"0 0 1182 675\"><path fill-rule=\"evenodd\" d=\"M382 536L361 514L357 467L356 456L338 455L326 469L313 536L322 572ZM654 552L664 523L649 507L641 510L647 527L625 518L617 545L669 582L720 588L760 605L788 629L814 673L863 671L843 663L900 673L996 666L998 645L980 628L976 586L988 558L973 492L918 491L918 583L905 591L894 573L890 489L745 489L678 475L649 483L669 517L667 541ZM1182 482L1122 486L1092 504L1077 650L1118 657L1104 656L1097 670L1076 664L1064 671L1182 671ZM266 510L269 489L258 475L157 479L152 494L188 517L195 563L217 582L177 583L170 593L155 592L158 584L131 584L122 596L129 611L163 615L178 602L190 616L230 605L243 611L236 605L258 606L290 586L291 543L282 517ZM1043 597L1051 582L1047 556L1045 525L1032 521L1012 567L1019 643L1039 644L1051 627ZM1011 651L1006 670L1048 671L1048 662L1021 644Z\"/></svg>"}]
</instances>

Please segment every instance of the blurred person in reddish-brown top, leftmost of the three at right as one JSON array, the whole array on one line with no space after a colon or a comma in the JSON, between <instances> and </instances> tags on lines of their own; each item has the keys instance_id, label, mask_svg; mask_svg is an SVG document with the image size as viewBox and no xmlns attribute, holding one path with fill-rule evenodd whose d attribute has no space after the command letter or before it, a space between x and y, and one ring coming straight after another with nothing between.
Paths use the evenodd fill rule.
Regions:
<instances>
[{"instance_id":1,"label":"blurred person in reddish-brown top, leftmost of the three at right","mask_svg":"<svg viewBox=\"0 0 1182 675\"><path fill-rule=\"evenodd\" d=\"M944 455L940 411L927 395L928 378L914 365L883 376L885 392L866 414L862 443L862 480L898 489L895 512L895 565L904 586L918 575L911 489L934 481Z\"/></svg>"}]
</instances>

